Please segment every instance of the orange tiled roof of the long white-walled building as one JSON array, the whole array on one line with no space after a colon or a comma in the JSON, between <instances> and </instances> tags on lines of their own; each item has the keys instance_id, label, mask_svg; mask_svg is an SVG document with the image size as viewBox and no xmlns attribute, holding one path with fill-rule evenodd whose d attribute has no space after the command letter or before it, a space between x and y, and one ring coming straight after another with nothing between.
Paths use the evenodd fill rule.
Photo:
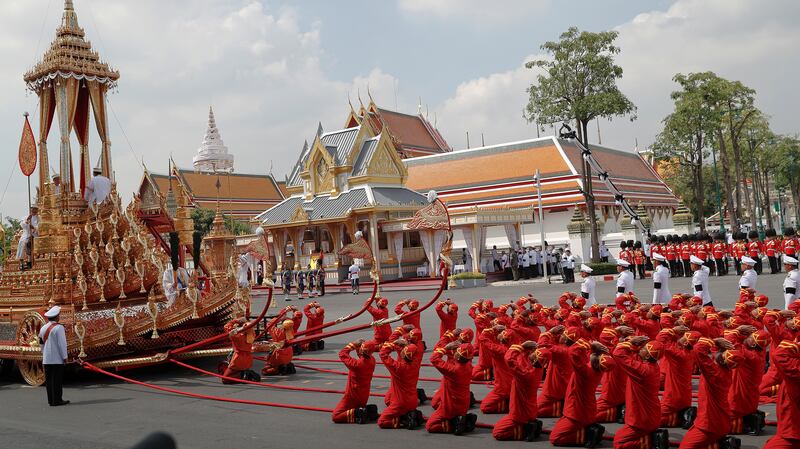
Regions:
<instances>
[{"instance_id":1,"label":"orange tiled roof of the long white-walled building","mask_svg":"<svg viewBox=\"0 0 800 449\"><path fill-rule=\"evenodd\" d=\"M563 149L563 152L561 151ZM632 202L677 206L678 200L635 153L592 148L601 166ZM436 190L448 208L458 212L522 208L536 204L533 174L542 176L542 202L558 208L584 202L580 190L581 155L569 141L552 137L407 159L406 185L420 192ZM613 195L597 178L598 205L614 204Z\"/></svg>"}]
</instances>

